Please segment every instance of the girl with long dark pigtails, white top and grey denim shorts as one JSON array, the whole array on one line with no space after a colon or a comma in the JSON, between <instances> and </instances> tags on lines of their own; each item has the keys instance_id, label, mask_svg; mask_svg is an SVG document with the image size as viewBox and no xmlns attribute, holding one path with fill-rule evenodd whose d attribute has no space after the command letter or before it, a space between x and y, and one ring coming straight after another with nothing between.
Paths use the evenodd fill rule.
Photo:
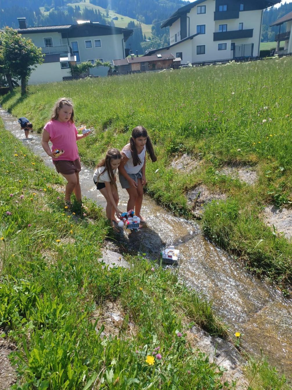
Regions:
<instances>
[{"instance_id":1,"label":"girl with long dark pigtails, white top and grey denim shorts","mask_svg":"<svg viewBox=\"0 0 292 390\"><path fill-rule=\"evenodd\" d=\"M146 184L146 151L152 162L155 162L157 157L147 130L142 126L137 126L132 131L130 143L123 147L119 179L122 188L125 188L129 194L127 211L135 208L135 214L141 222L144 222L140 213L143 201L143 186Z\"/></svg>"}]
</instances>

